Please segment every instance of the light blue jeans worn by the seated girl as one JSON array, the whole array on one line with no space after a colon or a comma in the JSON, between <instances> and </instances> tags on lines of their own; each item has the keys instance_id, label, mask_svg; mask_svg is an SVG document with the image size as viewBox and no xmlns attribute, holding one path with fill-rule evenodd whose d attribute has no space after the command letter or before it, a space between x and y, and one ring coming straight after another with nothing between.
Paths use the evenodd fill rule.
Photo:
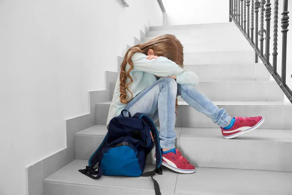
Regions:
<instances>
[{"instance_id":1,"label":"light blue jeans worn by the seated girl","mask_svg":"<svg viewBox=\"0 0 292 195\"><path fill-rule=\"evenodd\" d=\"M195 86L177 84L173 78L160 78L129 101L125 109L129 111L131 116L143 113L151 117L153 121L159 119L161 148L172 149L175 147L175 101L177 96L181 96L190 106L211 118L221 127L225 127L231 119L225 113L225 109L219 109Z\"/></svg>"}]
</instances>

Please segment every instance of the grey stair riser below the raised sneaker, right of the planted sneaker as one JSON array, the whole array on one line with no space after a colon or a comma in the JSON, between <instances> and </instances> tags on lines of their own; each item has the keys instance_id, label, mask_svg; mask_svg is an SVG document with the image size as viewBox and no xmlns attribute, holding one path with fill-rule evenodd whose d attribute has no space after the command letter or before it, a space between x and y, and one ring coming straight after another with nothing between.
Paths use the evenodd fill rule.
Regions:
<instances>
[{"instance_id":1,"label":"grey stair riser below the raised sneaker, right of the planted sneaker","mask_svg":"<svg viewBox=\"0 0 292 195\"><path fill-rule=\"evenodd\" d=\"M180 150L198 167L292 172L292 142L180 139Z\"/></svg>"}]
</instances>

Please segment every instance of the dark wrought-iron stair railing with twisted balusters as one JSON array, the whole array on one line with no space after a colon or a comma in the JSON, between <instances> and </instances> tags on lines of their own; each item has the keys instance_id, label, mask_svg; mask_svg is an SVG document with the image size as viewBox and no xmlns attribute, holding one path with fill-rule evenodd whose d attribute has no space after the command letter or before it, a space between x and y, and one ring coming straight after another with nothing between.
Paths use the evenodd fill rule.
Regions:
<instances>
[{"instance_id":1,"label":"dark wrought-iron stair railing with twisted balusters","mask_svg":"<svg viewBox=\"0 0 292 195\"><path fill-rule=\"evenodd\" d=\"M273 25L273 59L270 60L270 35L271 35L271 0L229 0L229 21L234 21L245 38L254 48L255 62L262 60L270 74L278 83L284 94L292 102L292 90L286 84L287 63L287 32L289 26L288 0L283 0L281 19L282 27L282 52L281 52L281 75L277 73L278 56L278 6L279 0L274 0L274 25ZM266 8L264 8L264 6ZM260 11L260 19L258 12ZM264 12L266 29L264 29ZM260 27L258 29L258 20ZM250 25L251 24L251 25ZM255 32L254 32L255 30ZM258 39L259 36L259 39ZM265 40L265 51L264 51ZM258 42L259 41L259 42ZM260 45L258 48L258 44Z\"/></svg>"}]
</instances>

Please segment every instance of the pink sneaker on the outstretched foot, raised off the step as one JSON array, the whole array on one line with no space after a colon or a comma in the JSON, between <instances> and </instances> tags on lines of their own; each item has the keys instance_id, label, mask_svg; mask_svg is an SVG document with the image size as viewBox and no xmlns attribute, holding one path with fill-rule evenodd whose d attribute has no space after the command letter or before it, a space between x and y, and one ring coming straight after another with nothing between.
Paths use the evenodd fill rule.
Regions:
<instances>
[{"instance_id":1,"label":"pink sneaker on the outstretched foot, raised off the step","mask_svg":"<svg viewBox=\"0 0 292 195\"><path fill-rule=\"evenodd\" d=\"M231 139L257 129L264 121L263 117L235 117L234 125L230 129L221 127L222 135L226 139Z\"/></svg>"}]
</instances>

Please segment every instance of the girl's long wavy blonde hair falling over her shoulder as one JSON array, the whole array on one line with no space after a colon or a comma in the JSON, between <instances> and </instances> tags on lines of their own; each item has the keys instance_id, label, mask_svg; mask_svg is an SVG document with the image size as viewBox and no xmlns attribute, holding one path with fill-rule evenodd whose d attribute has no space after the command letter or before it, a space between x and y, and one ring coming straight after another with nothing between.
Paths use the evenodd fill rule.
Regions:
<instances>
[{"instance_id":1,"label":"girl's long wavy blonde hair falling over her shoulder","mask_svg":"<svg viewBox=\"0 0 292 195\"><path fill-rule=\"evenodd\" d=\"M133 98L133 94L128 88L129 85L133 82L133 79L130 76L130 72L133 70L133 62L131 58L136 52L141 52L147 55L149 49L152 49L154 51L155 56L163 56L183 68L183 45L174 35L162 35L150 39L144 43L140 43L133 47L130 47L124 56L120 71L119 98L121 103L123 104L128 104L131 98ZM126 71L127 64L129 64L128 71ZM129 82L127 82L128 78ZM129 92L130 97L127 95L127 92ZM178 108L178 99L176 99L176 111L178 110Z\"/></svg>"}]
</instances>

